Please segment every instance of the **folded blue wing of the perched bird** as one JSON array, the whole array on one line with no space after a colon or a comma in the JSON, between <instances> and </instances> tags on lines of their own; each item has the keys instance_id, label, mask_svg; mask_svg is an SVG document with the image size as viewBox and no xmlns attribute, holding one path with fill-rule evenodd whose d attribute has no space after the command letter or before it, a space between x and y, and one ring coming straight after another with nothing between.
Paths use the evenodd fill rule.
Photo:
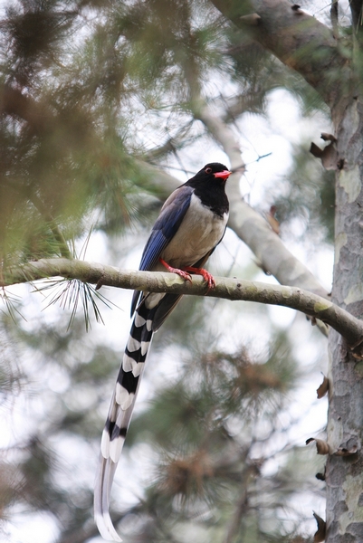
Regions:
<instances>
[{"instance_id":1,"label":"folded blue wing of the perched bird","mask_svg":"<svg viewBox=\"0 0 363 543\"><path fill-rule=\"evenodd\" d=\"M194 189L191 186L183 185L167 198L145 245L139 270L152 270L158 263L160 254L177 233L185 217L193 192ZM131 303L131 316L138 305L140 294L139 291L134 292Z\"/></svg>"}]
</instances>

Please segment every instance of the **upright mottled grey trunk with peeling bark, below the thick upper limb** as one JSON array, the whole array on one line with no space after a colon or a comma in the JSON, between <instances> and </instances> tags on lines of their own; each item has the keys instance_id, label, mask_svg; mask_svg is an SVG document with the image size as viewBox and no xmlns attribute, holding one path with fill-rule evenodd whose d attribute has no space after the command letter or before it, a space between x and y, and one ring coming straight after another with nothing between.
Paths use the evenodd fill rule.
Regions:
<instances>
[{"instance_id":1,"label":"upright mottled grey trunk with peeling bark, below the thick upper limb","mask_svg":"<svg viewBox=\"0 0 363 543\"><path fill-rule=\"evenodd\" d=\"M363 100L354 97L333 111L338 138L335 263L332 296L351 314L363 317ZM330 406L327 463L329 543L363 541L363 362L330 331Z\"/></svg>"}]
</instances>

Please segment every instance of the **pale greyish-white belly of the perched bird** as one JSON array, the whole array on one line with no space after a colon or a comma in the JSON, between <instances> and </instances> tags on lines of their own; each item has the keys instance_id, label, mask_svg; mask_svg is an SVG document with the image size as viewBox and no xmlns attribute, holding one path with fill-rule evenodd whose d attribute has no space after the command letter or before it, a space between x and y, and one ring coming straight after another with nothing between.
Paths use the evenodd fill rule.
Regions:
<instances>
[{"instance_id":1,"label":"pale greyish-white belly of the perched bird","mask_svg":"<svg viewBox=\"0 0 363 543\"><path fill-rule=\"evenodd\" d=\"M228 214L223 217L215 215L201 204L196 195L192 195L186 216L176 235L161 253L161 258L174 268L193 265L220 242L227 220ZM160 265L158 270L165 268Z\"/></svg>"}]
</instances>

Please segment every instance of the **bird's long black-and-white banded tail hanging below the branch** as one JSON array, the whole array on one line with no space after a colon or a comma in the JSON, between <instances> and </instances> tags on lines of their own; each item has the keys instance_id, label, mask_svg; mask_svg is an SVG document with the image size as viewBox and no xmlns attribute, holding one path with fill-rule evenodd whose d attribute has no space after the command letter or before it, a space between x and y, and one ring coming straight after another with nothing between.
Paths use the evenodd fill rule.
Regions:
<instances>
[{"instance_id":1,"label":"bird's long black-and-white banded tail hanging below the branch","mask_svg":"<svg viewBox=\"0 0 363 543\"><path fill-rule=\"evenodd\" d=\"M101 457L94 491L94 516L102 538L111 541L122 540L110 519L110 490L153 336L153 317L158 305L147 307L150 305L153 304L142 303L136 310L100 444Z\"/></svg>"}]
</instances>

